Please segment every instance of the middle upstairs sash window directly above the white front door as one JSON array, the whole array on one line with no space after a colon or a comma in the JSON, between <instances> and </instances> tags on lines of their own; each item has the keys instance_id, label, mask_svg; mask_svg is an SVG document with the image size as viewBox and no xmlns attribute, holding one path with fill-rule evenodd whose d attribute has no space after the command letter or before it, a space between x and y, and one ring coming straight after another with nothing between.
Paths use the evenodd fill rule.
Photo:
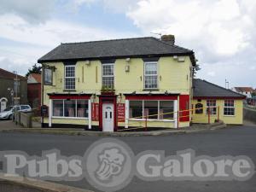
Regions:
<instances>
[{"instance_id":1,"label":"middle upstairs sash window directly above the white front door","mask_svg":"<svg viewBox=\"0 0 256 192\"><path fill-rule=\"evenodd\" d=\"M113 89L113 63L102 64L102 86Z\"/></svg>"}]
</instances>

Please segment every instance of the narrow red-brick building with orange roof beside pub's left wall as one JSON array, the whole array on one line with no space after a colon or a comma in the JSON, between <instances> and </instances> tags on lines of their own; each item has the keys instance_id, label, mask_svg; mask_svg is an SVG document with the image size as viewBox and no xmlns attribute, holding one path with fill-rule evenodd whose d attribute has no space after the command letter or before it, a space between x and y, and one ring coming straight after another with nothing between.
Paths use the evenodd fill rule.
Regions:
<instances>
[{"instance_id":1,"label":"narrow red-brick building with orange roof beside pub's left wall","mask_svg":"<svg viewBox=\"0 0 256 192\"><path fill-rule=\"evenodd\" d=\"M41 106L41 74L31 73L28 75L27 100L32 108Z\"/></svg>"}]
</instances>

